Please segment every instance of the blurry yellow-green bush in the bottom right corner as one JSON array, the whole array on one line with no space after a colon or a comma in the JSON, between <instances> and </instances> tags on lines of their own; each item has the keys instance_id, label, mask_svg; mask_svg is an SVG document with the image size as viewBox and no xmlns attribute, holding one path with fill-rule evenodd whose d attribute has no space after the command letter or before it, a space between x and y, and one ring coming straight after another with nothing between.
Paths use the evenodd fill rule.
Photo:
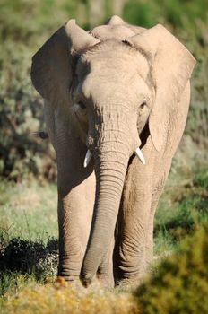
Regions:
<instances>
[{"instance_id":1,"label":"blurry yellow-green bush in the bottom right corner","mask_svg":"<svg viewBox=\"0 0 208 314\"><path fill-rule=\"evenodd\" d=\"M143 314L207 313L208 223L186 238L135 291Z\"/></svg>"}]
</instances>

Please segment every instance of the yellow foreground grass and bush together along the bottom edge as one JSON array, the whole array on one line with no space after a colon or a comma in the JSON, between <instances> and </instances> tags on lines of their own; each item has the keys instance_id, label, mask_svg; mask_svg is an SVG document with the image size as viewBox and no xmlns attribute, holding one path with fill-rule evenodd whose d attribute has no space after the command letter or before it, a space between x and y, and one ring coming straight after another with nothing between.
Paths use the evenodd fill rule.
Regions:
<instances>
[{"instance_id":1,"label":"yellow foreground grass and bush together along the bottom edge","mask_svg":"<svg viewBox=\"0 0 208 314\"><path fill-rule=\"evenodd\" d=\"M154 266L143 283L114 292L97 284L90 290L68 287L63 278L36 283L16 276L15 289L4 292L4 313L206 313L208 302L208 223L195 228L178 251ZM49 283L50 282L50 283ZM11 283L11 279L5 283Z\"/></svg>"}]
</instances>

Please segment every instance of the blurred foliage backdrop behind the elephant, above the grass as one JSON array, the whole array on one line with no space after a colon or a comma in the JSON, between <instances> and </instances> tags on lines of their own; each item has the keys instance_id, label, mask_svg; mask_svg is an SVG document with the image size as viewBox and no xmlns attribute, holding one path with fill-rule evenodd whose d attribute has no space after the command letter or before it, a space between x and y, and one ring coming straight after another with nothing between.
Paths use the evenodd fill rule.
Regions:
<instances>
[{"instance_id":1,"label":"blurred foliage backdrop behind the elephant, above the grass","mask_svg":"<svg viewBox=\"0 0 208 314\"><path fill-rule=\"evenodd\" d=\"M208 147L208 4L206 0L0 0L0 176L21 181L56 179L56 157L44 130L42 100L30 83L32 55L70 18L90 29L114 13L126 22L160 22L194 54L192 101L186 134L173 164L190 171Z\"/></svg>"}]
</instances>

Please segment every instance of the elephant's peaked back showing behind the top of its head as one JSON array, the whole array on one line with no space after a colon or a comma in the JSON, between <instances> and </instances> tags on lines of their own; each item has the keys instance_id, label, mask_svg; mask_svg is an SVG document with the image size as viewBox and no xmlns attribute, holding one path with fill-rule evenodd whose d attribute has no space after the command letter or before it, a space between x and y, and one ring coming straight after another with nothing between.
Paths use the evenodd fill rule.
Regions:
<instances>
[{"instance_id":1,"label":"elephant's peaked back showing behind the top of its head","mask_svg":"<svg viewBox=\"0 0 208 314\"><path fill-rule=\"evenodd\" d=\"M114 15L106 24L95 27L90 33L95 38L104 41L107 39L125 40L143 31L145 31L143 27L130 25Z\"/></svg>"}]
</instances>

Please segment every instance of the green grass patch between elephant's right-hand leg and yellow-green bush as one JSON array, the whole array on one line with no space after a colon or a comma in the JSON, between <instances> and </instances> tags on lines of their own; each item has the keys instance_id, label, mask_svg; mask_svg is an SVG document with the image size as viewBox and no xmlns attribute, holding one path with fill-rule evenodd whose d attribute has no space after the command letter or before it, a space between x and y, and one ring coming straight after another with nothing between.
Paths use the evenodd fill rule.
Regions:
<instances>
[{"instance_id":1,"label":"green grass patch between elephant's right-hand leg and yellow-green bush","mask_svg":"<svg viewBox=\"0 0 208 314\"><path fill-rule=\"evenodd\" d=\"M208 170L205 168L191 173L180 170L178 175L170 173L155 215L156 255L177 249L179 240L208 220L207 186Z\"/></svg>"}]
</instances>

